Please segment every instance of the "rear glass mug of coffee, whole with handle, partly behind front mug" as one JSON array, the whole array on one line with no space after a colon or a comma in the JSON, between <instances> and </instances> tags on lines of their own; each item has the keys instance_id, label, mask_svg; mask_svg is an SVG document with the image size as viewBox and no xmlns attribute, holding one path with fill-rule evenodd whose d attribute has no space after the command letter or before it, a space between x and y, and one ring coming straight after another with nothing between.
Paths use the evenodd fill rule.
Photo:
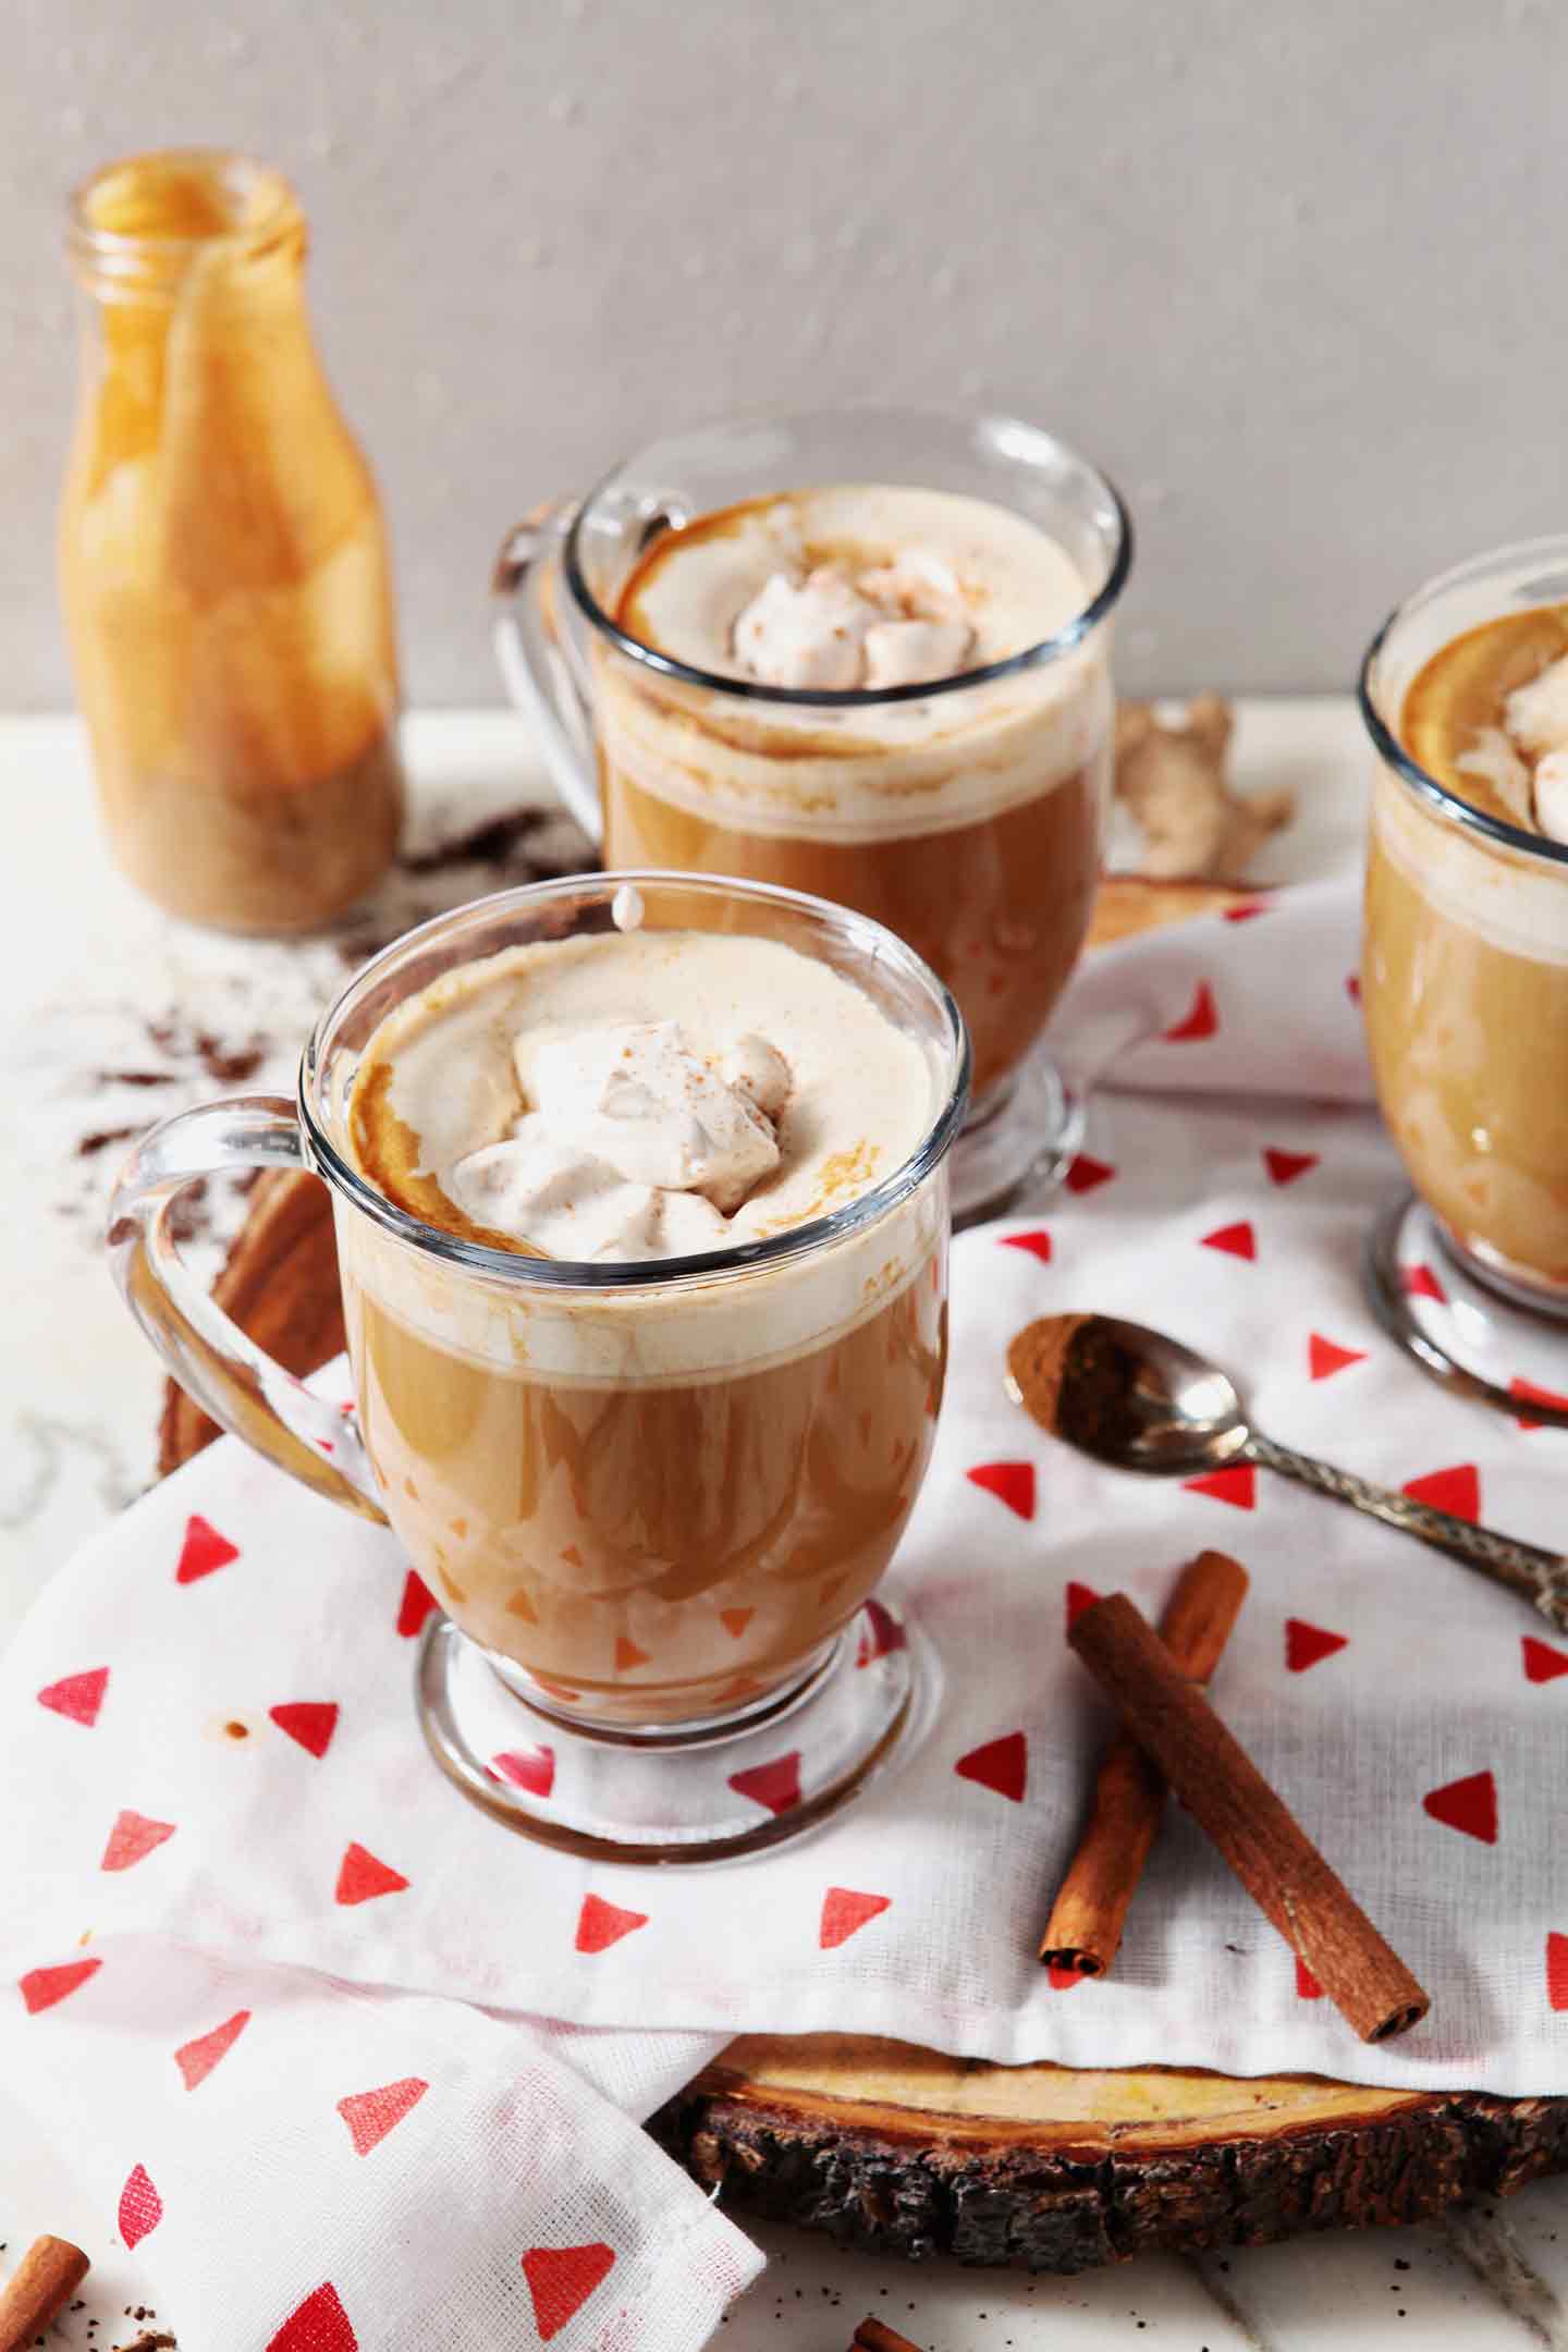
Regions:
<instances>
[{"instance_id":1,"label":"rear glass mug of coffee, whole with handle, partly behind front mug","mask_svg":"<svg viewBox=\"0 0 1568 2352\"><path fill-rule=\"evenodd\" d=\"M1100 877L1128 562L1051 435L917 409L675 435L501 555L508 682L611 863L832 898L952 988L966 1211L1067 1129L1037 1047Z\"/></svg>"}]
</instances>

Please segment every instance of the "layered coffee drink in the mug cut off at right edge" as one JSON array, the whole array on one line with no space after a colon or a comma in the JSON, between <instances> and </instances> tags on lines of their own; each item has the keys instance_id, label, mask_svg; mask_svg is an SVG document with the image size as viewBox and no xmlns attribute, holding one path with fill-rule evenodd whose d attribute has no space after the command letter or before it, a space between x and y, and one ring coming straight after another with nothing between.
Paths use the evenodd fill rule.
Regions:
<instances>
[{"instance_id":1,"label":"layered coffee drink in the mug cut off at right edge","mask_svg":"<svg viewBox=\"0 0 1568 2352\"><path fill-rule=\"evenodd\" d=\"M1363 969L1378 1098L1476 1270L1568 1301L1568 604L1450 635L1389 727L1462 807L1394 767L1378 776Z\"/></svg>"}]
</instances>

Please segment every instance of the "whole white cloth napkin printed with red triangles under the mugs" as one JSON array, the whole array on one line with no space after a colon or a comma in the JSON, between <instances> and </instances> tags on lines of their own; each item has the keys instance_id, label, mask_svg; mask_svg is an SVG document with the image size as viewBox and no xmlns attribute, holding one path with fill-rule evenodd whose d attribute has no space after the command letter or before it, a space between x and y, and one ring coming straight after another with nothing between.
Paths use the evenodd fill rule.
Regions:
<instances>
[{"instance_id":1,"label":"whole white cloth napkin printed with red triangles under the mugs","mask_svg":"<svg viewBox=\"0 0 1568 2352\"><path fill-rule=\"evenodd\" d=\"M1048 1211L957 1244L950 1392L893 1578L940 1689L903 1766L811 1839L682 1875L505 1837L414 1726L395 1541L233 1442L52 1583L0 1675L5 1785L28 1792L0 2063L94 2166L106 2227L150 2178L141 2251L167 2307L223 2312L209 2333L237 2352L315 2343L287 2317L322 2281L348 2314L331 2352L414 2343L411 2314L480 2343L496 2296L548 2336L562 2305L529 2258L576 2249L576 2291L602 2260L581 2251L609 2246L559 2324L569 2352L618 2343L623 2307L639 2340L696 2345L745 2258L614 2112L712 2046L684 2037L1568 2091L1568 1637L1284 1482L1100 1470L1001 1388L1030 1317L1135 1315L1218 1355L1272 1435L1556 1538L1561 1432L1436 1390L1361 1303L1399 1171L1363 1108L1354 957L1352 894L1309 889L1081 976L1067 1044L1093 1058L1119 1030L1117 1080L1175 1091L1103 1091ZM1401 2042L1354 2042L1175 1813L1117 1971L1056 1985L1032 1957L1110 1729L1067 1611L1124 1588L1154 1616L1211 1543L1253 1573L1215 1703L1432 1992ZM621 2027L614 2079L581 2039L475 2004ZM240 2009L186 2091L179 2046ZM430 2091L360 2157L339 2103L397 2105L388 2084L411 2079Z\"/></svg>"}]
</instances>

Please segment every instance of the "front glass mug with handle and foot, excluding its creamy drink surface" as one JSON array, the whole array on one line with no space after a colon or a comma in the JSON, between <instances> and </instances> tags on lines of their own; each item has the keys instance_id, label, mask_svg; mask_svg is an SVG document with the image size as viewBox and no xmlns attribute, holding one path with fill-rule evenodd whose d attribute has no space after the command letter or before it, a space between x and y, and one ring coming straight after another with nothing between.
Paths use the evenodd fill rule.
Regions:
<instances>
[{"instance_id":1,"label":"front glass mug with handle and foot, excluding its creamy drink surface","mask_svg":"<svg viewBox=\"0 0 1568 2352\"><path fill-rule=\"evenodd\" d=\"M578 1851L691 1860L816 1820L910 1719L910 1644L884 1602L865 1604L943 1395L969 1044L940 981L877 924L792 891L639 873L644 929L783 941L919 1044L936 1110L914 1152L842 1209L705 1258L578 1265L409 1216L350 1150L367 1040L442 971L607 931L623 880L503 891L397 941L322 1014L296 1103L228 1096L141 1141L110 1254L190 1395L317 1494L390 1522L440 1597L418 1712L458 1785ZM179 1261L181 1190L242 1167L308 1169L331 1192L348 1411L284 1374ZM759 1804L736 1776L776 1759L783 1715L799 1717L799 1785Z\"/></svg>"}]
</instances>

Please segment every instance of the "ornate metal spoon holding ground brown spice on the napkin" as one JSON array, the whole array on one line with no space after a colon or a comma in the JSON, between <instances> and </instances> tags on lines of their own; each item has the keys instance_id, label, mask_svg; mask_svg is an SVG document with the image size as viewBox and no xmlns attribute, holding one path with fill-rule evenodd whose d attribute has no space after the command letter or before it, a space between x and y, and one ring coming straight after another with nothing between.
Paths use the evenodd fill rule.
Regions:
<instances>
[{"instance_id":1,"label":"ornate metal spoon holding ground brown spice on the napkin","mask_svg":"<svg viewBox=\"0 0 1568 2352\"><path fill-rule=\"evenodd\" d=\"M1568 1632L1568 1559L1516 1543L1408 1494L1373 1486L1253 1430L1234 1385L1192 1348L1117 1315L1044 1315L1006 1352L1006 1390L1053 1437L1117 1470L1194 1477L1234 1463L1281 1470L1385 1526L1420 1536L1523 1595Z\"/></svg>"}]
</instances>

